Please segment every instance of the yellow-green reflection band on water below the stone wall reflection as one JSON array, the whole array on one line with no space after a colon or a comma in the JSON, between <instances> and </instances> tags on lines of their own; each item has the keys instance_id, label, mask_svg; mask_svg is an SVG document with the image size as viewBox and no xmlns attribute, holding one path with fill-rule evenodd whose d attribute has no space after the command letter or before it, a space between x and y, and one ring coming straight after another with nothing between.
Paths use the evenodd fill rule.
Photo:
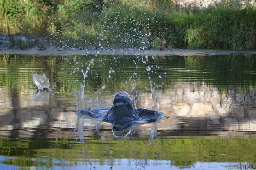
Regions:
<instances>
[{"instance_id":1,"label":"yellow-green reflection band on water below the stone wall reflection","mask_svg":"<svg viewBox=\"0 0 256 170\"><path fill-rule=\"evenodd\" d=\"M170 138L156 139L157 144L148 146L148 138L136 140L85 140L89 159L102 165L107 159L170 160L174 166L190 166L195 162L256 162L255 139L227 138ZM82 144L71 139L59 138L5 138L0 139L0 154L14 157L4 164L16 166L51 167L55 158L61 161L86 161ZM157 154L158 152L158 154ZM44 159L42 164L41 158ZM98 160L99 159L99 160ZM114 162L107 162L113 165Z\"/></svg>"}]
</instances>

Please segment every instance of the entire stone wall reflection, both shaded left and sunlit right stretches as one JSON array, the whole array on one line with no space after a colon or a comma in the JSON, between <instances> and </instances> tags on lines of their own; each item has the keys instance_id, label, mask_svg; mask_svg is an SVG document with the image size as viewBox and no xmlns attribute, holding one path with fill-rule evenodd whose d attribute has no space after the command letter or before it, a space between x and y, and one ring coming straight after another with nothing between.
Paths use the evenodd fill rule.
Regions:
<instances>
[{"instance_id":1,"label":"entire stone wall reflection, both shaded left and sunlit right stretches","mask_svg":"<svg viewBox=\"0 0 256 170\"><path fill-rule=\"evenodd\" d=\"M70 131L76 128L75 96L68 99L69 103L74 104L74 107L70 107L53 92L36 94L35 90L18 91L0 87L2 135L12 135L12 130L31 131L33 136L37 131ZM167 118L159 122L158 130L211 133L256 131L255 95L256 88L243 92L242 88L220 90L199 82L176 83L159 96L158 108ZM138 107L154 110L151 93L140 92L139 96ZM111 95L102 96L100 100L105 102L104 107L112 105ZM93 129L95 124L92 120L86 120L85 128ZM140 129L150 130L151 126L137 125L137 134L142 133ZM99 128L111 130L112 125L101 123ZM93 133L90 132L91 135ZM111 132L106 133L109 134Z\"/></svg>"}]
</instances>

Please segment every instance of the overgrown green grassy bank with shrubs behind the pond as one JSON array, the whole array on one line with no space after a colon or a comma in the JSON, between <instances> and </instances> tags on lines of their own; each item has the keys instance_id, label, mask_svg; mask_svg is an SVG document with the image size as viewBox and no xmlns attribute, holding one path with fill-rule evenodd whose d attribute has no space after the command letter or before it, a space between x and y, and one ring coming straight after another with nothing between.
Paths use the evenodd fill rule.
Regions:
<instances>
[{"instance_id":1,"label":"overgrown green grassy bank with shrubs behind the pond","mask_svg":"<svg viewBox=\"0 0 256 170\"><path fill-rule=\"evenodd\" d=\"M10 47L256 48L256 8L235 0L187 8L169 0L1 0L0 33ZM2 41L3 43L4 41ZM39 44L39 45L38 45Z\"/></svg>"}]
</instances>

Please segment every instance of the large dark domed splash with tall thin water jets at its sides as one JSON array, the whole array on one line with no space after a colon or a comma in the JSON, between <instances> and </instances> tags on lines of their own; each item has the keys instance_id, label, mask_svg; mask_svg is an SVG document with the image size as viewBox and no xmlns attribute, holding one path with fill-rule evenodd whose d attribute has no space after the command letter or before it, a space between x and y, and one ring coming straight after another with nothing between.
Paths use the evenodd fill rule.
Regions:
<instances>
[{"instance_id":1,"label":"large dark domed splash with tall thin water jets at its sides","mask_svg":"<svg viewBox=\"0 0 256 170\"><path fill-rule=\"evenodd\" d=\"M120 57L120 59L124 59L124 57ZM152 59L154 59L152 57ZM98 60L98 59L97 59ZM106 59L104 59L106 60ZM118 57L114 56L113 58L108 59L111 62L110 65L104 66L103 60L101 58L99 58L99 61L103 63L104 67L107 67L109 69L107 69L107 76L106 79L103 80L103 84L99 86L99 88L97 89L97 92L95 93L97 95L96 97L96 101L94 104L97 104L96 108L89 108L89 103L85 103L85 94L84 94L84 90L85 90L85 86L87 83L89 83L89 81L92 80L86 80L86 77L88 76L88 74L90 73L90 67L92 65L92 63L94 62L94 59L92 59L90 61L90 63L88 63L87 65L87 69L86 71L81 70L82 74L83 74L83 82L80 85L80 89L76 91L75 95L76 95L76 99L77 99L77 114L78 114L78 122L77 122L77 128L78 128L78 135L79 135L79 139L80 142L83 144L84 147L84 123L86 123L88 121L88 119L94 119L96 121L92 121L92 122L96 122L95 123L95 127L96 127L96 132L98 134L100 134L100 130L99 130L99 126L100 126L100 122L101 121L106 121L106 122L110 122L113 124L113 128L112 128L112 132L116 137L126 137L128 135L134 134L136 131L136 128L134 129L134 127L136 126L136 123L149 123L149 122L154 122L152 128L151 128L151 132L150 132L150 137L148 140L148 148L151 145L154 145L154 139L157 138L157 124L159 122L159 120L162 120L162 116L161 112L158 111L158 91L157 88L161 87L161 85L158 85L159 82L163 84L163 82L161 81L155 81L155 77L159 77L159 80L161 79L161 75L159 74L159 72L157 72L155 70L155 68L160 69L159 66L155 66L154 64L152 64L152 60L151 58L149 58L148 56L136 56L136 58L134 58L133 63L135 64L135 69L132 70L131 72L131 76L125 81L126 86L123 86L123 89L127 89L127 91L130 92L129 98L132 101L132 105L133 108L135 110L135 117L137 114L137 118L135 119L133 116L128 117L131 118L131 121L128 121L129 124L127 124L127 120L123 121L123 119L118 119L118 120L112 120L112 117L116 117L115 111L111 111L112 109L114 110L115 108L100 108L99 107L99 101L98 101L98 95L100 95L102 92L108 92L110 94L110 91L108 91L108 87L110 86L110 84L112 83L113 80L116 79L116 75L115 74L123 74L124 71L122 70L122 65L120 66L120 60ZM142 63L140 63L142 62ZM145 70L143 70L142 72L139 70L141 67L138 67L137 64L142 64L142 65L146 65L146 67L144 68ZM118 67L117 67L118 66ZM83 67L83 65L82 65ZM143 66L144 67L144 66ZM77 69L78 70L78 69ZM148 85L145 86L144 82L142 82L140 80L140 78L138 78L137 74L143 74L146 73L148 74ZM95 74L95 72L94 72ZM97 74L95 74L97 76ZM156 75L156 76L155 76ZM146 76L147 77L147 76ZM151 78L153 77L153 79ZM129 87L131 87L131 89L129 89ZM145 89L147 89L148 91L151 92L152 95L152 99L153 99L153 103L154 103L154 108L155 109L138 109L138 105L140 103L138 103L139 101L139 89L141 87L144 87ZM124 91L123 91L124 93ZM126 93L125 93L126 94ZM115 94L117 95L117 94ZM119 95L122 96L122 95ZM125 97L127 95L124 95L123 97ZM100 97L100 96L99 96ZM115 96L116 97L116 96ZM89 102L93 101L91 98L89 99ZM120 103L120 101L118 101ZM122 106L123 104L121 103L121 105L119 105L118 102L114 102L113 104L116 107L116 109L120 109L120 110L125 110L127 109L126 107ZM117 104L115 104L117 103ZM128 109L129 110L129 109ZM142 111L145 110L145 111ZM154 111L153 111L154 110ZM125 111L124 111L125 112ZM123 114L123 112L119 112ZM125 112L126 113L126 112ZM113 115L113 116L111 116ZM123 114L124 117L127 115ZM146 116L147 115L147 116ZM156 119L152 119L152 117L157 117ZM134 118L134 119L132 119ZM126 119L126 118L125 118ZM149 120L151 119L151 120ZM122 121L121 121L122 120ZM134 125L134 121L136 122ZM91 121L90 121L91 122ZM88 123L88 122L87 122ZM101 139L104 139L104 137L101 137ZM86 150L83 148L83 153L85 153L87 155ZM145 153L145 158L146 158L146 162L147 162L147 155L148 155L148 150ZM87 155L88 157L88 155ZM89 161L89 159L88 159ZM147 163L146 163L147 164Z\"/></svg>"}]
</instances>

